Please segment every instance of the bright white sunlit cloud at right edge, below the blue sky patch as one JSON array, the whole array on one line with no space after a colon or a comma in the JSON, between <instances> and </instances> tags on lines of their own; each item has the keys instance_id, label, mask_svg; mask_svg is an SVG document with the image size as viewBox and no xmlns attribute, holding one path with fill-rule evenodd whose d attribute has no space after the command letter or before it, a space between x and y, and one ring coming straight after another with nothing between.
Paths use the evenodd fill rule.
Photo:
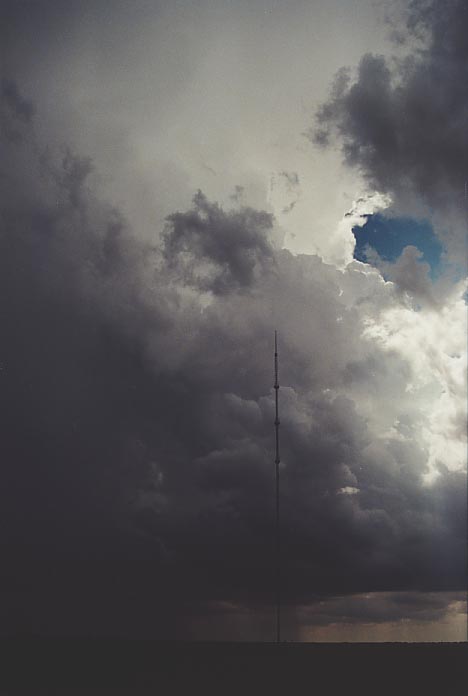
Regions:
<instances>
[{"instance_id":1,"label":"bright white sunlit cloud at right edge, below the blue sky patch","mask_svg":"<svg viewBox=\"0 0 468 696\"><path fill-rule=\"evenodd\" d=\"M428 448L429 479L442 464L466 466L466 305L458 296L439 311L396 305L369 320L365 335L410 367L404 401L412 401L424 418L411 431ZM396 423L400 426L401 423Z\"/></svg>"}]
</instances>

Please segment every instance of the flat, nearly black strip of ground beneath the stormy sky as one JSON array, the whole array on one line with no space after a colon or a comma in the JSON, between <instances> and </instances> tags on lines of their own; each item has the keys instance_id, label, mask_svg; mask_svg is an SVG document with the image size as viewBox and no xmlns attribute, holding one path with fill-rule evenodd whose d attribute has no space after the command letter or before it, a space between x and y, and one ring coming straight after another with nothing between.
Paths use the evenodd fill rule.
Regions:
<instances>
[{"instance_id":1,"label":"flat, nearly black strip of ground beneath the stormy sky","mask_svg":"<svg viewBox=\"0 0 468 696\"><path fill-rule=\"evenodd\" d=\"M463 694L468 643L0 641L0 696Z\"/></svg>"}]
</instances>

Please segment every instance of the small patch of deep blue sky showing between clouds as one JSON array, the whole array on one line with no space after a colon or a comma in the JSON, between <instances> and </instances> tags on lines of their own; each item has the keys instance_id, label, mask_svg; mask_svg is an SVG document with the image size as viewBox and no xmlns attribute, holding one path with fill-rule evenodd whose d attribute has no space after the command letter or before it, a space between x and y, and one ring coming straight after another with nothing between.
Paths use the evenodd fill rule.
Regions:
<instances>
[{"instance_id":1,"label":"small patch of deep blue sky showing between clouds","mask_svg":"<svg viewBox=\"0 0 468 696\"><path fill-rule=\"evenodd\" d=\"M427 220L387 218L376 213L368 215L362 227L353 227L353 234L356 238L354 258L358 261L368 262L368 247L374 249L384 261L392 263L405 247L415 246L422 253L421 261L429 264L432 280L436 280L442 271L443 246Z\"/></svg>"}]
</instances>

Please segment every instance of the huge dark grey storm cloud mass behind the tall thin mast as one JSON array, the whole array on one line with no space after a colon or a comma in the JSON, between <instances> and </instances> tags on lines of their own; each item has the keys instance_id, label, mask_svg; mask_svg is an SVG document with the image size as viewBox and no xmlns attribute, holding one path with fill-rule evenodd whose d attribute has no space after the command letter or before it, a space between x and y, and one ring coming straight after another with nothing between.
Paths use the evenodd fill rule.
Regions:
<instances>
[{"instance_id":1,"label":"huge dark grey storm cloud mass behind the tall thin mast","mask_svg":"<svg viewBox=\"0 0 468 696\"><path fill-rule=\"evenodd\" d=\"M406 362L361 340L381 285L202 193L145 245L91 160L24 125L1 142L3 631L180 637L200 602L271 603L274 325L285 601L462 587L463 475L422 487L420 445L340 394L385 393L382 431L403 420Z\"/></svg>"}]
</instances>

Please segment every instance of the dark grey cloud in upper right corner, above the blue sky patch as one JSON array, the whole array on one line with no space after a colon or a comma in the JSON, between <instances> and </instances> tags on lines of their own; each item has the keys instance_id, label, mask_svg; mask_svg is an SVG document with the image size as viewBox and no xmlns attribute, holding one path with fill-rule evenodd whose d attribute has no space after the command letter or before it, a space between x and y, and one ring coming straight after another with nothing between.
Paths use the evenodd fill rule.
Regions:
<instances>
[{"instance_id":1,"label":"dark grey cloud in upper right corner, above the blue sky patch","mask_svg":"<svg viewBox=\"0 0 468 696\"><path fill-rule=\"evenodd\" d=\"M346 162L371 186L393 194L396 205L416 196L440 216L456 213L460 228L467 177L467 3L417 0L405 17L409 56L390 61L366 54L356 79L342 69L311 137L325 145L336 135ZM439 217L439 225L449 227L447 217ZM463 241L464 230L449 237L452 249L463 252L454 235Z\"/></svg>"}]
</instances>

